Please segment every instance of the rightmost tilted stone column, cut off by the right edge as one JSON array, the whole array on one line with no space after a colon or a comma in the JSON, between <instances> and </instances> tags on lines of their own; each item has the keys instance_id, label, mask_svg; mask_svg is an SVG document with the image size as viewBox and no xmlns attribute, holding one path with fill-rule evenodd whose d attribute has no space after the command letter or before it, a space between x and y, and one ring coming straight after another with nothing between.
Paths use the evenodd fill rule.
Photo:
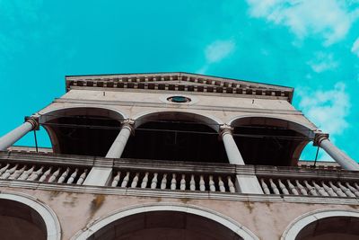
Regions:
<instances>
[{"instance_id":1,"label":"rightmost tilted stone column, cut off by the right edge","mask_svg":"<svg viewBox=\"0 0 359 240\"><path fill-rule=\"evenodd\" d=\"M317 134L314 139L314 146L323 148L324 151L337 162L337 164L343 167L343 169L359 171L359 164L332 144L328 139L328 134Z\"/></svg>"}]
</instances>

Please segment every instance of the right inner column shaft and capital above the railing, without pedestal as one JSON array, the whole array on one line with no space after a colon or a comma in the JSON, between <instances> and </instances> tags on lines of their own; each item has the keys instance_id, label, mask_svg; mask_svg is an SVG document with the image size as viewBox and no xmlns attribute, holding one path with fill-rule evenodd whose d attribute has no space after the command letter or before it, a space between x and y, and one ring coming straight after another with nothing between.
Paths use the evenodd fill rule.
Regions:
<instances>
[{"instance_id":1,"label":"right inner column shaft and capital above the railing, without pedestal","mask_svg":"<svg viewBox=\"0 0 359 240\"><path fill-rule=\"evenodd\" d=\"M228 125L221 126L221 137L223 139L223 144L225 152L227 154L230 164L240 164L244 165L243 158L241 157L240 150L235 143L232 136L232 128Z\"/></svg>"}]
</instances>

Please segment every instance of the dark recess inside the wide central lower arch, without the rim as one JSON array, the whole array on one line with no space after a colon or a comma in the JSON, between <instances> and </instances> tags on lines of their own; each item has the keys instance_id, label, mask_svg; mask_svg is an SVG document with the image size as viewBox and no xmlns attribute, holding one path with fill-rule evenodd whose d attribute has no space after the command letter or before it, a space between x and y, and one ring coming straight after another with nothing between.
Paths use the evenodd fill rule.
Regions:
<instances>
[{"instance_id":1,"label":"dark recess inside the wide central lower arch, without the rim","mask_svg":"<svg viewBox=\"0 0 359 240\"><path fill-rule=\"evenodd\" d=\"M190 213L153 211L120 218L102 227L89 240L239 240L231 229Z\"/></svg>"}]
</instances>

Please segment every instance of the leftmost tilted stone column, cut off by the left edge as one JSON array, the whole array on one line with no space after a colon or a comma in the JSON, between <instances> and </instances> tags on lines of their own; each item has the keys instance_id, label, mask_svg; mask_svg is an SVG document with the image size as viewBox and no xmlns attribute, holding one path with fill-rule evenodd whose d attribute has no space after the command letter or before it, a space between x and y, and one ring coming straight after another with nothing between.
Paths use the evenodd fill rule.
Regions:
<instances>
[{"instance_id":1,"label":"leftmost tilted stone column, cut off by the left edge","mask_svg":"<svg viewBox=\"0 0 359 240\"><path fill-rule=\"evenodd\" d=\"M0 138L0 150L4 151L7 147L13 146L13 144L22 138L25 134L30 132L32 129L37 129L39 127L39 123L34 118L27 118L22 125L13 129L11 132L4 135Z\"/></svg>"}]
</instances>

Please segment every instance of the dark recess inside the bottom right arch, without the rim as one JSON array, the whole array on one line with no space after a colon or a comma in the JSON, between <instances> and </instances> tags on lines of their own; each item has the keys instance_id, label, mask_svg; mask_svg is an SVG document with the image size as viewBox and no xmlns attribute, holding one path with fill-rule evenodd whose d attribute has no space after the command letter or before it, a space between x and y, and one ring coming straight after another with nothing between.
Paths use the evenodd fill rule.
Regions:
<instances>
[{"instance_id":1,"label":"dark recess inside the bottom right arch, without the rim","mask_svg":"<svg viewBox=\"0 0 359 240\"><path fill-rule=\"evenodd\" d=\"M359 239L359 218L320 218L303 227L295 240L356 240Z\"/></svg>"}]
</instances>

